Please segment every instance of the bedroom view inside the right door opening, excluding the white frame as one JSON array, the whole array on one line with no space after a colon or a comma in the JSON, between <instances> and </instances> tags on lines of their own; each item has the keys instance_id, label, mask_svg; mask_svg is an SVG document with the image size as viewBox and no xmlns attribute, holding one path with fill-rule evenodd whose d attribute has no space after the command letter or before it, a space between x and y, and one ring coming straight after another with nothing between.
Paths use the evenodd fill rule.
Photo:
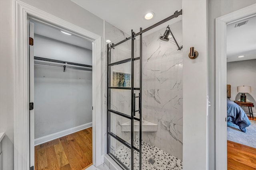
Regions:
<instances>
[{"instance_id":1,"label":"bedroom view inside the right door opening, excluding the white frame","mask_svg":"<svg viewBox=\"0 0 256 170\"><path fill-rule=\"evenodd\" d=\"M226 29L228 169L256 168L255 28L256 17L251 17Z\"/></svg>"}]
</instances>

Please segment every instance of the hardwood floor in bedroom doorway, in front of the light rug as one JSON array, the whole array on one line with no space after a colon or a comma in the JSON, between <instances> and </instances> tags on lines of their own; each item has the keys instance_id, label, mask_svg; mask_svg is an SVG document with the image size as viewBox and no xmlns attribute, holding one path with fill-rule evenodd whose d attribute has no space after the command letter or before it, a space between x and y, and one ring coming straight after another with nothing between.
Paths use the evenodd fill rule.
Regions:
<instances>
[{"instance_id":1,"label":"hardwood floor in bedroom doorway, in front of the light rug","mask_svg":"<svg viewBox=\"0 0 256 170\"><path fill-rule=\"evenodd\" d=\"M256 148L228 141L228 170L255 170Z\"/></svg>"}]
</instances>

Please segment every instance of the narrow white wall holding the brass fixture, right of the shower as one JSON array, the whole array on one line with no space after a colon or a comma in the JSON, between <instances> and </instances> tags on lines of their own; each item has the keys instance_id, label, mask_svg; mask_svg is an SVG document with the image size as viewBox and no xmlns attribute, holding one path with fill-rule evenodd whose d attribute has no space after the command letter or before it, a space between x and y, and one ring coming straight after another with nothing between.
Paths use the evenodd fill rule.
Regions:
<instances>
[{"instance_id":1,"label":"narrow white wall holding the brass fixture, right of the shower","mask_svg":"<svg viewBox=\"0 0 256 170\"><path fill-rule=\"evenodd\" d=\"M207 0L182 0L183 169L207 169ZM190 47L198 58L188 57Z\"/></svg>"}]
</instances>

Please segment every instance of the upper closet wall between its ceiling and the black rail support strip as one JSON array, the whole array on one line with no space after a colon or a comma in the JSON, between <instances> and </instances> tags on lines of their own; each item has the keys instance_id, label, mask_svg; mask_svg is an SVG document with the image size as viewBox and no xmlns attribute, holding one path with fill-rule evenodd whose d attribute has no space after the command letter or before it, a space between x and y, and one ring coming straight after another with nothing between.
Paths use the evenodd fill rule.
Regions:
<instances>
[{"instance_id":1,"label":"upper closet wall between its ceiling and the black rail support strip","mask_svg":"<svg viewBox=\"0 0 256 170\"><path fill-rule=\"evenodd\" d=\"M34 36L34 56L92 65L92 50L40 35Z\"/></svg>"}]
</instances>

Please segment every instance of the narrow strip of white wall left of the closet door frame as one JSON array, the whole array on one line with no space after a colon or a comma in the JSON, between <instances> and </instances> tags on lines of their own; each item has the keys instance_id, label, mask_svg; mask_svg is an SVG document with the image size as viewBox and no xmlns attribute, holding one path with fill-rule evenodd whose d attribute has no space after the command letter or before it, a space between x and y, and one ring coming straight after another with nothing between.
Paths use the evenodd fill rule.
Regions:
<instances>
[{"instance_id":1,"label":"narrow strip of white wall left of the closet door frame","mask_svg":"<svg viewBox=\"0 0 256 170\"><path fill-rule=\"evenodd\" d=\"M14 15L13 1L0 0L0 132L3 169L12 170L14 129Z\"/></svg>"}]
</instances>

